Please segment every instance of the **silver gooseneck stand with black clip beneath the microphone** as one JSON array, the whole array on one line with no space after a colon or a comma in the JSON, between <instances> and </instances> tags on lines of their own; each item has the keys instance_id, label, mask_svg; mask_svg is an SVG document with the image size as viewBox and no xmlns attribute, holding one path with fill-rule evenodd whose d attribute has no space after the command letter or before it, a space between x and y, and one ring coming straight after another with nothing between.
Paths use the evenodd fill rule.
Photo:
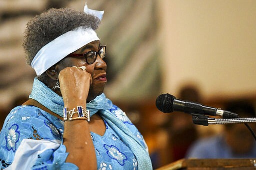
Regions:
<instances>
[{"instance_id":1,"label":"silver gooseneck stand with black clip beneath the microphone","mask_svg":"<svg viewBox=\"0 0 256 170\"><path fill-rule=\"evenodd\" d=\"M256 123L256 118L232 118L232 119L215 119L210 118L209 116L199 115L199 114L192 114L192 121L195 125L220 125L220 124L241 124L243 123L250 131L251 135L253 136L254 140L256 141L256 135L249 127L247 123Z\"/></svg>"}]
</instances>

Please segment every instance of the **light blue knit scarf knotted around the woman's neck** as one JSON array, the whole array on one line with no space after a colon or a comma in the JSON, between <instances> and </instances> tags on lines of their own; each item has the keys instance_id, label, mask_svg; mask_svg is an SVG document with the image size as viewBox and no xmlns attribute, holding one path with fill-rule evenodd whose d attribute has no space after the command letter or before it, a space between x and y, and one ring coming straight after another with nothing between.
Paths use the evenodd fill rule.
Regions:
<instances>
[{"instance_id":1,"label":"light blue knit scarf knotted around the woman's neck","mask_svg":"<svg viewBox=\"0 0 256 170\"><path fill-rule=\"evenodd\" d=\"M50 111L63 117L64 102L51 89L45 86L37 78L34 79L32 92L29 98L38 101ZM109 109L112 102L102 93L94 100L86 103L86 109L90 111L90 116L97 113L107 122L107 124L117 133L120 139L130 148L138 162L138 170L152 170L151 161L144 146L137 140L124 123L114 116Z\"/></svg>"}]
</instances>

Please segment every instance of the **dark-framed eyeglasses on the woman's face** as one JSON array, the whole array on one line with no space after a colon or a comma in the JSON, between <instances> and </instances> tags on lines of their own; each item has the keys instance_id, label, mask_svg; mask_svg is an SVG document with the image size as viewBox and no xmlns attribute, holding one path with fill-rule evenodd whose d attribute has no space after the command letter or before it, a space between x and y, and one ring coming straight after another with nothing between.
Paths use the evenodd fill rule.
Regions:
<instances>
[{"instance_id":1,"label":"dark-framed eyeglasses on the woman's face","mask_svg":"<svg viewBox=\"0 0 256 170\"><path fill-rule=\"evenodd\" d=\"M83 56L86 60L86 63L93 64L97 59L97 55L99 55L100 58L105 57L105 51L106 51L106 46L100 45L98 51L91 50L91 51L85 52L84 54L71 53L71 54L68 54L67 56L71 56L71 57Z\"/></svg>"}]
</instances>

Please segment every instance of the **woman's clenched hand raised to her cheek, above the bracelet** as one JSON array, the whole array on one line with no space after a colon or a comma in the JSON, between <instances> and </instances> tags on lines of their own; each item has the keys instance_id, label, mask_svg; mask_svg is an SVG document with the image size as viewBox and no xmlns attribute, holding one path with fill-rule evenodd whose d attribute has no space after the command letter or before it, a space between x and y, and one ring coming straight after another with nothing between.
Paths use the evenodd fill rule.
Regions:
<instances>
[{"instance_id":1,"label":"woman's clenched hand raised to her cheek, above the bracelet","mask_svg":"<svg viewBox=\"0 0 256 170\"><path fill-rule=\"evenodd\" d=\"M64 107L86 107L86 99L92 83L91 75L81 68L66 67L59 72L58 79Z\"/></svg>"}]
</instances>

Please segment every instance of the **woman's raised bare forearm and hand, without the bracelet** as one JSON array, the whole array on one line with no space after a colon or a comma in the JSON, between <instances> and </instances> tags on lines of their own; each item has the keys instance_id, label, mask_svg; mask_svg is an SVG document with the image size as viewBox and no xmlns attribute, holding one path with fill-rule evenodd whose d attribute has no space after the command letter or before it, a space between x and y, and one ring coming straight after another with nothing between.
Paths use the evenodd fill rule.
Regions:
<instances>
[{"instance_id":1,"label":"woman's raised bare forearm and hand, without the bracelet","mask_svg":"<svg viewBox=\"0 0 256 170\"><path fill-rule=\"evenodd\" d=\"M86 98L92 83L91 75L81 68L66 67L59 72L58 79L64 107L68 110L77 106L86 108ZM66 162L75 164L79 170L97 169L95 149L87 121L65 121L63 145L69 153Z\"/></svg>"}]
</instances>

